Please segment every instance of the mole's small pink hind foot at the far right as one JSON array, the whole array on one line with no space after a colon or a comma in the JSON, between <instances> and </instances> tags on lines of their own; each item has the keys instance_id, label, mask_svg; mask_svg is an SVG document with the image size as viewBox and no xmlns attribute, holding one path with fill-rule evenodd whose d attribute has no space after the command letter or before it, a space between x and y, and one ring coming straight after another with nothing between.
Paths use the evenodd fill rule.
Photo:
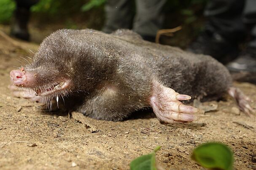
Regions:
<instances>
[{"instance_id":1,"label":"mole's small pink hind foot at the far right","mask_svg":"<svg viewBox=\"0 0 256 170\"><path fill-rule=\"evenodd\" d=\"M252 100L246 96L239 88L231 87L229 88L228 93L237 101L239 108L245 112L245 114L251 117L251 113L255 113L255 110L250 105Z\"/></svg>"}]
</instances>

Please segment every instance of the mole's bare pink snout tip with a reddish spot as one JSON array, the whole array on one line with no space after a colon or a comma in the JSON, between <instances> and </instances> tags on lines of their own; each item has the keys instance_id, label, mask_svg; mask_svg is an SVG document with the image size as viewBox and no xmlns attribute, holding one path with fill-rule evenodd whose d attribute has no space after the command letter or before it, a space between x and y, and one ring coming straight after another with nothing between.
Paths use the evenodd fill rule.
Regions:
<instances>
[{"instance_id":1,"label":"mole's bare pink snout tip with a reddish spot","mask_svg":"<svg viewBox=\"0 0 256 170\"><path fill-rule=\"evenodd\" d=\"M26 72L23 67L20 70L12 70L10 77L13 85L16 86L32 87L35 85L35 74Z\"/></svg>"}]
</instances>

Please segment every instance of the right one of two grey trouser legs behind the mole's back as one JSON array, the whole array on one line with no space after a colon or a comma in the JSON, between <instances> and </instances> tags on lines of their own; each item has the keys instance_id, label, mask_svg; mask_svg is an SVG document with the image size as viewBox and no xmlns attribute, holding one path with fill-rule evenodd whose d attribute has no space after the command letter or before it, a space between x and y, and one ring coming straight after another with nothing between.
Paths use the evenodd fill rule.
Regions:
<instances>
[{"instance_id":1,"label":"right one of two grey trouser legs behind the mole's back","mask_svg":"<svg viewBox=\"0 0 256 170\"><path fill-rule=\"evenodd\" d=\"M132 30L143 39L154 41L157 30L164 22L163 7L166 0L136 0L136 16Z\"/></svg>"}]
</instances>

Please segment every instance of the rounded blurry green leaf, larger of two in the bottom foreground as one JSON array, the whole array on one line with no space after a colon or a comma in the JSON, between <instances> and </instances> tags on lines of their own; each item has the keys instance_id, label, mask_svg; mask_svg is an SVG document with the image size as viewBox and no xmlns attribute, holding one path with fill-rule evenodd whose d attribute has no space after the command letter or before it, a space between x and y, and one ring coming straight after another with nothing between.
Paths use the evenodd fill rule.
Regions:
<instances>
[{"instance_id":1,"label":"rounded blurry green leaf, larger of two in the bottom foreground","mask_svg":"<svg viewBox=\"0 0 256 170\"><path fill-rule=\"evenodd\" d=\"M205 168L232 170L233 167L233 153L222 143L202 144L194 149L191 157Z\"/></svg>"}]
</instances>

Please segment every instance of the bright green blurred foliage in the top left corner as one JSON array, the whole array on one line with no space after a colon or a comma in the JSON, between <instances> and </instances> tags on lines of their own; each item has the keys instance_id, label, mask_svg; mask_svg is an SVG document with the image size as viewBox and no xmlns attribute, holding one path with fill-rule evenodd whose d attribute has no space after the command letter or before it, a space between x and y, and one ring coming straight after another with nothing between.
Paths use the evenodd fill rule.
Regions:
<instances>
[{"instance_id":1,"label":"bright green blurred foliage in the top left corner","mask_svg":"<svg viewBox=\"0 0 256 170\"><path fill-rule=\"evenodd\" d=\"M5 23L11 20L15 6L13 0L0 0L0 23Z\"/></svg>"}]
</instances>

